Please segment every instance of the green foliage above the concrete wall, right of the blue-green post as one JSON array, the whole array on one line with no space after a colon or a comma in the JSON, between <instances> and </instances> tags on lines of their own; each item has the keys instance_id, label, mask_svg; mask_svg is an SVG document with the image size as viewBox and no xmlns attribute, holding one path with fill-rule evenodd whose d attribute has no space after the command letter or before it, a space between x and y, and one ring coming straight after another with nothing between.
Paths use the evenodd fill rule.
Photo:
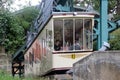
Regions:
<instances>
[{"instance_id":1,"label":"green foliage above the concrete wall, right of the blue-green post","mask_svg":"<svg viewBox=\"0 0 120 80\"><path fill-rule=\"evenodd\" d=\"M111 50L120 50L120 29L110 34L111 39L109 40Z\"/></svg>"}]
</instances>

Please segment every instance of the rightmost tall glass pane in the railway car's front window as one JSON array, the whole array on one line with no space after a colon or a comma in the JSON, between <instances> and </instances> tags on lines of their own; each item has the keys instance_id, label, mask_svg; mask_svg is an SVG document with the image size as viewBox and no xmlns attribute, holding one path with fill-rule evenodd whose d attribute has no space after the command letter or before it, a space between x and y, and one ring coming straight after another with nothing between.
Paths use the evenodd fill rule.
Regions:
<instances>
[{"instance_id":1,"label":"rightmost tall glass pane in the railway car's front window","mask_svg":"<svg viewBox=\"0 0 120 80\"><path fill-rule=\"evenodd\" d=\"M92 19L84 20L84 43L85 49L92 49Z\"/></svg>"}]
</instances>

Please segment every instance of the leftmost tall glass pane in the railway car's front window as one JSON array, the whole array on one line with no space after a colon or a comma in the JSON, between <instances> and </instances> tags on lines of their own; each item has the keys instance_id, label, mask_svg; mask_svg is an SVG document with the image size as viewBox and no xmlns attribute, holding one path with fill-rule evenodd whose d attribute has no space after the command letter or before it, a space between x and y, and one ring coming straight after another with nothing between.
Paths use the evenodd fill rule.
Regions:
<instances>
[{"instance_id":1,"label":"leftmost tall glass pane in the railway car's front window","mask_svg":"<svg viewBox=\"0 0 120 80\"><path fill-rule=\"evenodd\" d=\"M63 47L63 20L54 20L54 50L62 50Z\"/></svg>"}]
</instances>

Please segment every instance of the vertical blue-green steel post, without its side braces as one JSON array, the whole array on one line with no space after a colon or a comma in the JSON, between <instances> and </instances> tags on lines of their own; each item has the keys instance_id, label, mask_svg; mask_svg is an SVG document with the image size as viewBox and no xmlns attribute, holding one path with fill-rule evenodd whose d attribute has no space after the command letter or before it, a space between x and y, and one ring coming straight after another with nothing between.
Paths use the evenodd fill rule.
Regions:
<instances>
[{"instance_id":1,"label":"vertical blue-green steel post, without its side braces","mask_svg":"<svg viewBox=\"0 0 120 80\"><path fill-rule=\"evenodd\" d=\"M99 48L102 46L102 43L108 42L108 0L100 0L100 39L99 39Z\"/></svg>"}]
</instances>

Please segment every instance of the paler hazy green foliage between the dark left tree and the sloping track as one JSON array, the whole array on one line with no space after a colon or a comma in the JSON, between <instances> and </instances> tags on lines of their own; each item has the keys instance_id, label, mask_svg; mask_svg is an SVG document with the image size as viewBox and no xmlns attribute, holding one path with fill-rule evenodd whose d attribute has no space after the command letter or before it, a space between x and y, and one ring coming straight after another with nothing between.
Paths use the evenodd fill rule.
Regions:
<instances>
[{"instance_id":1,"label":"paler hazy green foliage between the dark left tree and the sloping track","mask_svg":"<svg viewBox=\"0 0 120 80\"><path fill-rule=\"evenodd\" d=\"M20 22L19 24L24 28L25 31L27 31L33 24L32 21L37 17L38 12L38 9L36 9L34 6L26 7L16 12L16 17Z\"/></svg>"}]
</instances>

